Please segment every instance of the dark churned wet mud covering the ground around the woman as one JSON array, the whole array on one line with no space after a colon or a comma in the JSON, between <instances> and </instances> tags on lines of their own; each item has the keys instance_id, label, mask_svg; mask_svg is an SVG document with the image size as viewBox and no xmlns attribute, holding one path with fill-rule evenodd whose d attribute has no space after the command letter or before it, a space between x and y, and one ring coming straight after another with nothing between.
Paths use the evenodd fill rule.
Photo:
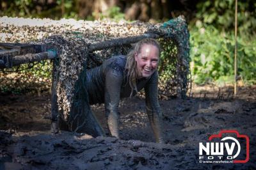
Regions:
<instances>
[{"instance_id":1,"label":"dark churned wet mud covering the ground around the woman","mask_svg":"<svg viewBox=\"0 0 256 170\"><path fill-rule=\"evenodd\" d=\"M50 134L50 95L8 95L0 99L0 169L256 169L256 86L194 88L191 98L159 101L166 144L154 143L144 100L120 103L120 137ZM106 128L104 105L93 105ZM220 130L250 138L246 164L200 164L198 143Z\"/></svg>"}]
</instances>

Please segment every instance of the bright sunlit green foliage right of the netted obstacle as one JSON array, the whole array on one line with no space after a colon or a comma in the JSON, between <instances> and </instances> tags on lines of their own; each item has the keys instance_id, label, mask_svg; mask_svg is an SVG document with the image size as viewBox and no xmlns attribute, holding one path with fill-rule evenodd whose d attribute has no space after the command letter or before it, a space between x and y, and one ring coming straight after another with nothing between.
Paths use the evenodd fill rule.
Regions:
<instances>
[{"instance_id":1,"label":"bright sunlit green foliage right of the netted obstacle","mask_svg":"<svg viewBox=\"0 0 256 170\"><path fill-rule=\"evenodd\" d=\"M256 82L255 1L238 1L237 70L246 84ZM193 80L234 82L235 1L205 1L189 23Z\"/></svg>"}]
</instances>

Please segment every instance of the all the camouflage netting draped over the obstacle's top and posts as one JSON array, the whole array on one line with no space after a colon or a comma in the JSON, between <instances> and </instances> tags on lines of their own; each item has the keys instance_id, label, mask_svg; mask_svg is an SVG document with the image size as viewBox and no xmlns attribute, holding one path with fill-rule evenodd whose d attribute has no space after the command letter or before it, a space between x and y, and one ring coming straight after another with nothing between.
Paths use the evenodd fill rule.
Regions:
<instances>
[{"instance_id":1,"label":"all the camouflage netting draped over the obstacle's top and posts","mask_svg":"<svg viewBox=\"0 0 256 170\"><path fill-rule=\"evenodd\" d=\"M127 54L129 45L120 45L103 50L88 51L93 43L116 38L140 36L144 33L161 35L159 42L163 47L159 65L159 97L185 97L191 81L189 73L189 33L182 17L164 24L143 22L75 21L0 18L1 42L29 42L47 44L58 53L54 60L53 77L56 81L56 102L59 116L69 121L70 112L81 105L77 98L84 84L86 69L99 66L105 59L119 54ZM57 35L57 36L56 36ZM8 74L4 74L2 81ZM80 78L79 78L80 77ZM80 88L80 89L79 89ZM74 102L76 100L76 102ZM84 102L84 101L83 101ZM81 114L85 114L81 112ZM78 115L79 116L79 115ZM82 116L82 117L81 117ZM76 120L74 116L71 120ZM80 115L78 120L83 120ZM77 121L78 121L77 120ZM70 130L77 130L84 122L77 122Z\"/></svg>"}]
</instances>

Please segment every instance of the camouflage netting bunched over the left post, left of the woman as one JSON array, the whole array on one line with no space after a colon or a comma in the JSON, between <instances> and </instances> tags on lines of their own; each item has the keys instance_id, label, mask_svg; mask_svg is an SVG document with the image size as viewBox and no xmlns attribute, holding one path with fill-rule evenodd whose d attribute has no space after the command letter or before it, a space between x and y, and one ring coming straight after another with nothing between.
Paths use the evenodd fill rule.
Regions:
<instances>
[{"instance_id":1,"label":"camouflage netting bunched over the left post, left of the woman","mask_svg":"<svg viewBox=\"0 0 256 170\"><path fill-rule=\"evenodd\" d=\"M43 43L54 47L60 58L55 61L56 70L54 70L53 76L57 81L58 110L67 120L76 81L88 58L88 45L81 38L63 38L62 36L50 36Z\"/></svg>"}]
</instances>

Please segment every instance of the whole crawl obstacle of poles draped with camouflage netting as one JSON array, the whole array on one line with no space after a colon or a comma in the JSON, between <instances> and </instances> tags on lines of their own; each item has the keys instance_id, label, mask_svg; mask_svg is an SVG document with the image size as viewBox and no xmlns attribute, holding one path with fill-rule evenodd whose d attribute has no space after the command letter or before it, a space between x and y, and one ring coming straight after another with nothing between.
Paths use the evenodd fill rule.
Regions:
<instances>
[{"instance_id":1,"label":"whole crawl obstacle of poles draped with camouflage netting","mask_svg":"<svg viewBox=\"0 0 256 170\"><path fill-rule=\"evenodd\" d=\"M4 19L0 22L8 20ZM35 31L46 32L44 38L42 35L38 40L27 38L27 43L10 43L12 37L6 34L10 34L12 27L19 27L20 32L25 32L29 26L0 26L6 41L0 43L1 69L45 59L53 61L51 112L54 128L97 135L101 129L88 102L86 69L101 65L111 56L127 54L132 43L143 38L156 38L163 47L159 65L159 97L186 97L191 81L189 32L182 17L156 25L142 22L77 23L80 24L78 27L71 25L64 31L60 24L56 24L51 34L45 26L38 26Z\"/></svg>"}]
</instances>

